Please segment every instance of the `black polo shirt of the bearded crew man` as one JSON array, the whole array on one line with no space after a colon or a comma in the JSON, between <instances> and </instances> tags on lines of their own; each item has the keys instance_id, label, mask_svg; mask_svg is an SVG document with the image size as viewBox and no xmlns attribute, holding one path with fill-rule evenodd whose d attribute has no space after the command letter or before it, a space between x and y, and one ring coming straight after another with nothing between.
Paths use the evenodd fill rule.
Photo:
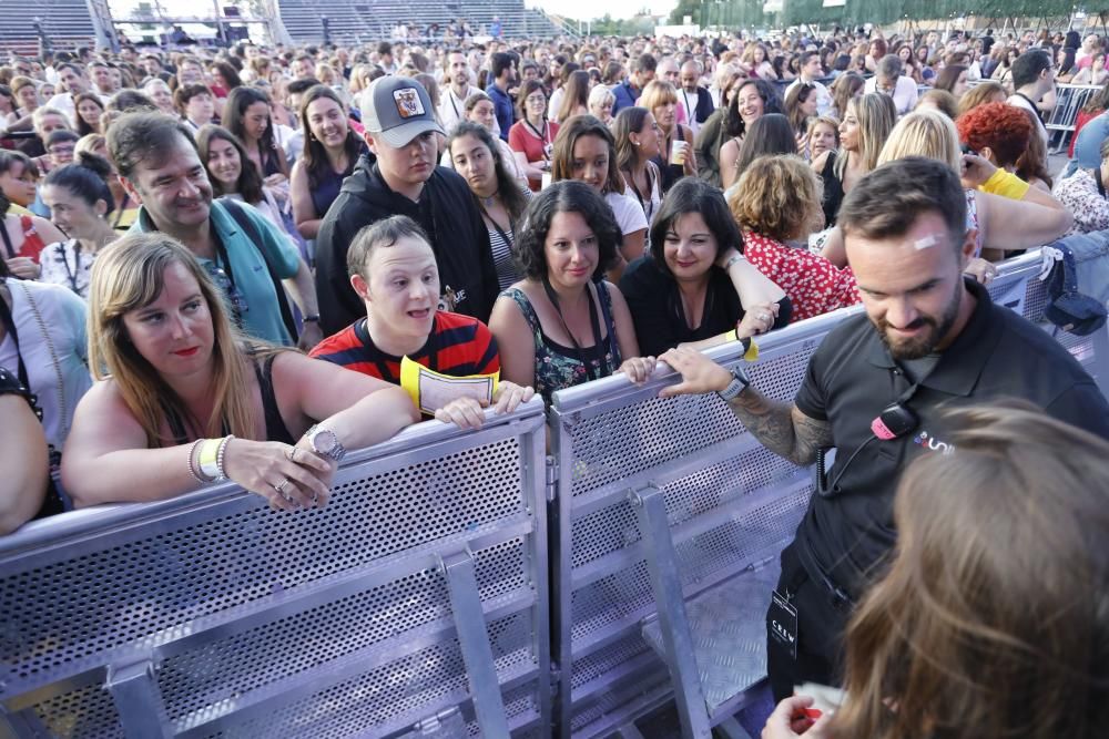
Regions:
<instances>
[{"instance_id":1,"label":"black polo shirt of the bearded crew man","mask_svg":"<svg viewBox=\"0 0 1109 739\"><path fill-rule=\"evenodd\" d=\"M915 431L875 439L847 465L873 437L871 421L912 386L865 314L825 337L794 401L806 415L831 422L836 459L828 480L843 473L838 492L813 495L796 543L855 596L863 573L896 540L893 501L902 471L920 454L949 450L950 432L939 420L945 409L1021 398L1109 439L1109 404L1075 358L1042 329L995 306L977 283L967 287L978 300L974 314L907 402L919 418Z\"/></svg>"}]
</instances>

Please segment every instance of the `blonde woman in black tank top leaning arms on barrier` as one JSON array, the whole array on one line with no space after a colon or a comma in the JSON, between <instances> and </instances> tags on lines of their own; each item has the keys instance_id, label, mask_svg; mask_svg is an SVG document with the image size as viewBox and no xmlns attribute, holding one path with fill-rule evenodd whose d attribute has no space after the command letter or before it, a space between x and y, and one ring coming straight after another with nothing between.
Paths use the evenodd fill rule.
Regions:
<instances>
[{"instance_id":1,"label":"blonde woman in black tank top leaning arms on barrier","mask_svg":"<svg viewBox=\"0 0 1109 739\"><path fill-rule=\"evenodd\" d=\"M400 388L244 342L207 273L163 234L101 252L89 297L99 382L62 458L78 506L167 499L225 479L276 509L323 505L346 449L418 420Z\"/></svg>"}]
</instances>

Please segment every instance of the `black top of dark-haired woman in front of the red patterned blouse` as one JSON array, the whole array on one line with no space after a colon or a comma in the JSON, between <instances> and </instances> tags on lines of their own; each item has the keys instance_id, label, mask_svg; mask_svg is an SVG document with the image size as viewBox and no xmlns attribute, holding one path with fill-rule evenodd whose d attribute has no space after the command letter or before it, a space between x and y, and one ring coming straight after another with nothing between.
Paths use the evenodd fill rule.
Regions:
<instances>
[{"instance_id":1,"label":"black top of dark-haired woman in front of the red patterned blouse","mask_svg":"<svg viewBox=\"0 0 1109 739\"><path fill-rule=\"evenodd\" d=\"M628 265L620 278L620 292L628 301L639 352L643 356L658 357L684 341L719 336L735 328L743 318L743 308L732 281L723 269L716 267L710 269L704 315L695 329L689 328L685 322L678 281L659 269L650 255Z\"/></svg>"}]
</instances>

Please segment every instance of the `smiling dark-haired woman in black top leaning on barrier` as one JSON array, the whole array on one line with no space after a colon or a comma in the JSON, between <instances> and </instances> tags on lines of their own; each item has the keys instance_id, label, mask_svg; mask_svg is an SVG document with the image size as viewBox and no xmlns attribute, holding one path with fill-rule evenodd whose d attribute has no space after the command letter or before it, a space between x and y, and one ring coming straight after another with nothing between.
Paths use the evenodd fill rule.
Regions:
<instances>
[{"instance_id":1,"label":"smiling dark-haired woman in black top leaning on barrier","mask_svg":"<svg viewBox=\"0 0 1109 739\"><path fill-rule=\"evenodd\" d=\"M720 191L693 177L679 181L651 226L650 254L620 278L640 348L649 355L679 345L704 349L788 324L785 291L743 249Z\"/></svg>"}]
</instances>

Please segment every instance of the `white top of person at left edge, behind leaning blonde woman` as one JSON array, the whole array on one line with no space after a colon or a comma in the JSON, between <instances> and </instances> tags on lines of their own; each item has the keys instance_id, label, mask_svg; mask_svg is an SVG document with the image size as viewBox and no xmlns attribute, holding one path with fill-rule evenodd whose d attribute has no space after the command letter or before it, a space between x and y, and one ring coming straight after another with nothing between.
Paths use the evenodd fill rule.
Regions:
<instances>
[{"instance_id":1,"label":"white top of person at left edge, behind leaning blonde woman","mask_svg":"<svg viewBox=\"0 0 1109 739\"><path fill-rule=\"evenodd\" d=\"M8 286L19 352L11 336L4 336L0 367L18 377L18 357L23 358L31 391L39 397L47 442L61 451L73 410L92 387L84 301L60 285L8 280Z\"/></svg>"}]
</instances>

